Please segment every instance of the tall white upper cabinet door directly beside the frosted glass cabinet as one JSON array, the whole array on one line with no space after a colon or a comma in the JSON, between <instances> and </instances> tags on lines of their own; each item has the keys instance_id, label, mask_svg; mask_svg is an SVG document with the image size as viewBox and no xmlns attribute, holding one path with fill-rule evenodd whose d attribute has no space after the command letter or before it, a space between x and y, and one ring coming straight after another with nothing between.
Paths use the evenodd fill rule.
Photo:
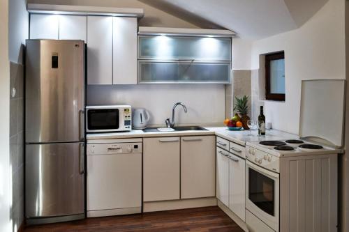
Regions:
<instances>
[{"instance_id":1,"label":"tall white upper cabinet door directly beside the frosted glass cabinet","mask_svg":"<svg viewBox=\"0 0 349 232\"><path fill-rule=\"evenodd\" d=\"M137 18L113 17L113 84L137 84Z\"/></svg>"}]
</instances>

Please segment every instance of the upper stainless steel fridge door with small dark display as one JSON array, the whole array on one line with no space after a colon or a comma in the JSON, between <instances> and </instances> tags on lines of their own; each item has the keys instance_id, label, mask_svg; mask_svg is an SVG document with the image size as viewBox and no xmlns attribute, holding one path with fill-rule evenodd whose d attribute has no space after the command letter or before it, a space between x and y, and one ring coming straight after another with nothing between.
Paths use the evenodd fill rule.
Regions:
<instances>
[{"instance_id":1,"label":"upper stainless steel fridge door with small dark display","mask_svg":"<svg viewBox=\"0 0 349 232\"><path fill-rule=\"evenodd\" d=\"M26 141L84 137L84 42L27 40Z\"/></svg>"}]
</instances>

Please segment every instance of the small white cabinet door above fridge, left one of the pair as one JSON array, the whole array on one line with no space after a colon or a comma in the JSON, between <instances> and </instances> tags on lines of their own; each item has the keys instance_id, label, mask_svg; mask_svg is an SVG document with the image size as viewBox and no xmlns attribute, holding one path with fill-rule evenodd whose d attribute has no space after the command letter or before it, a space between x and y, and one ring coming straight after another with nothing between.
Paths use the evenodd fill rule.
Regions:
<instances>
[{"instance_id":1,"label":"small white cabinet door above fridge, left one of the pair","mask_svg":"<svg viewBox=\"0 0 349 232\"><path fill-rule=\"evenodd\" d=\"M59 15L30 15L31 39L58 40Z\"/></svg>"}]
</instances>

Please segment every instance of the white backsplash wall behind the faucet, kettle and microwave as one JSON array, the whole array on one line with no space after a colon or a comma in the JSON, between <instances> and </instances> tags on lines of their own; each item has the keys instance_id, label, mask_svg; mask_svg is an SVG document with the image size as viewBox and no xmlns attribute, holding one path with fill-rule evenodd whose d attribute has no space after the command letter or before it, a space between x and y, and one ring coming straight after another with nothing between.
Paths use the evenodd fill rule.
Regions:
<instances>
[{"instance_id":1,"label":"white backsplash wall behind the faucet, kettle and microwave","mask_svg":"<svg viewBox=\"0 0 349 232\"><path fill-rule=\"evenodd\" d=\"M223 85L152 84L137 86L88 86L87 105L128 104L150 111L151 125L165 125L172 106L183 102L188 113L178 107L175 121L190 125L221 125L224 116L225 92Z\"/></svg>"}]
</instances>

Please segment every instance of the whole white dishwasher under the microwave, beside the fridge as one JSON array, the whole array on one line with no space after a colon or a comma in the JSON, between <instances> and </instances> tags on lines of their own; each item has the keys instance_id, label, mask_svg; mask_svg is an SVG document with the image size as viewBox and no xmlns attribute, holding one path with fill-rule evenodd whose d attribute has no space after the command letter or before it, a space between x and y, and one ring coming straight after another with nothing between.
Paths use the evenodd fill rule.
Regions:
<instances>
[{"instance_id":1,"label":"whole white dishwasher under the microwave, beside the fridge","mask_svg":"<svg viewBox=\"0 0 349 232\"><path fill-rule=\"evenodd\" d=\"M142 212L142 139L87 141L87 217Z\"/></svg>"}]
</instances>

